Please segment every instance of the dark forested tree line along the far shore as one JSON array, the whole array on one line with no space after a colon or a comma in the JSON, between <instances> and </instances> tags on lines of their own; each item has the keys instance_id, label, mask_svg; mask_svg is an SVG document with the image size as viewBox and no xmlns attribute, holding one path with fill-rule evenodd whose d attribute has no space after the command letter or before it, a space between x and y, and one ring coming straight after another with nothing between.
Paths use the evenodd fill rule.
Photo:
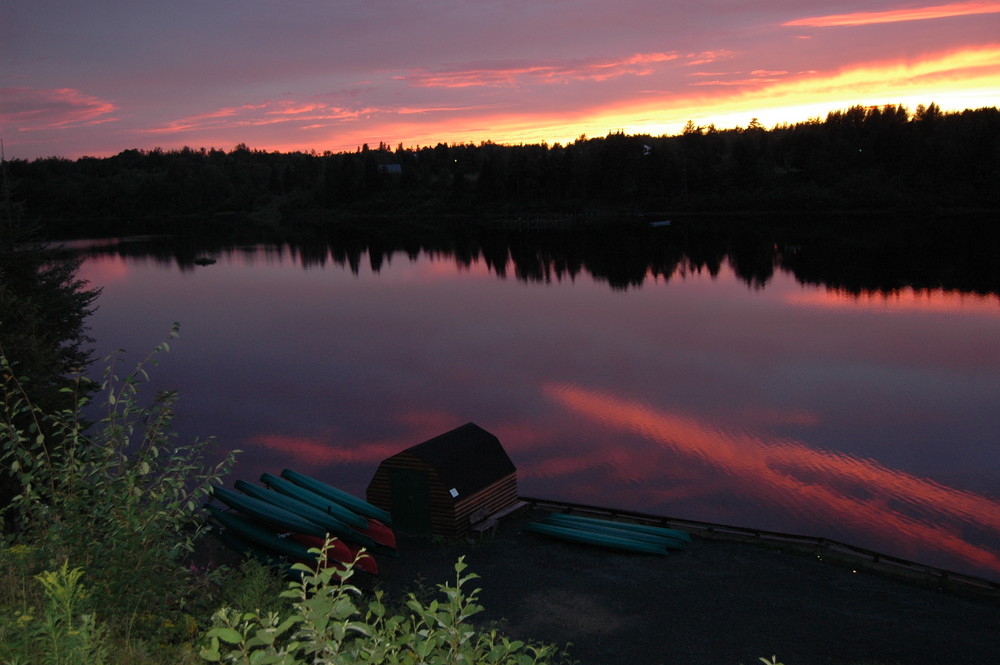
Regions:
<instances>
[{"instance_id":1,"label":"dark forested tree line along the far shore","mask_svg":"<svg viewBox=\"0 0 1000 665\"><path fill-rule=\"evenodd\" d=\"M344 153L126 150L14 161L15 197L53 220L305 211L621 213L1000 206L1000 110L860 107L765 129L568 145L440 143ZM120 231L120 229L115 229ZM63 229L65 231L65 229Z\"/></svg>"}]
</instances>

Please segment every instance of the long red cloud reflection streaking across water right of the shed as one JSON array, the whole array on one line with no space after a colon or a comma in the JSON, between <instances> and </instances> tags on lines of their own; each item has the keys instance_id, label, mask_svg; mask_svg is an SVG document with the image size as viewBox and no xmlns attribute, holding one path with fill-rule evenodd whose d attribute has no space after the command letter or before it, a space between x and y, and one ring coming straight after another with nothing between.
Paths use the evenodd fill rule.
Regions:
<instances>
[{"instance_id":1,"label":"long red cloud reflection streaking across water right of the shed","mask_svg":"<svg viewBox=\"0 0 1000 665\"><path fill-rule=\"evenodd\" d=\"M1000 536L1000 504L987 497L872 460L813 450L795 440L726 432L599 391L551 385L546 394L601 425L639 433L710 464L727 474L731 490L777 504L784 511L860 528L910 548L947 552L1000 571L995 551L959 534L962 527L975 527L991 538Z\"/></svg>"}]
</instances>

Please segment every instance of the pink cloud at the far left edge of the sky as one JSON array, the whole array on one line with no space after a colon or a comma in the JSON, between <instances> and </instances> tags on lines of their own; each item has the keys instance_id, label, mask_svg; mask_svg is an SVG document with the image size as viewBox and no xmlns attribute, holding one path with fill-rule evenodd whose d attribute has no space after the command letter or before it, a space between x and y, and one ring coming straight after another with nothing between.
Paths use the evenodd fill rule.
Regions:
<instances>
[{"instance_id":1,"label":"pink cloud at the far left edge of the sky","mask_svg":"<svg viewBox=\"0 0 1000 665\"><path fill-rule=\"evenodd\" d=\"M114 103L73 88L38 90L0 89L0 124L14 125L19 131L83 127L117 118L109 117Z\"/></svg>"}]
</instances>

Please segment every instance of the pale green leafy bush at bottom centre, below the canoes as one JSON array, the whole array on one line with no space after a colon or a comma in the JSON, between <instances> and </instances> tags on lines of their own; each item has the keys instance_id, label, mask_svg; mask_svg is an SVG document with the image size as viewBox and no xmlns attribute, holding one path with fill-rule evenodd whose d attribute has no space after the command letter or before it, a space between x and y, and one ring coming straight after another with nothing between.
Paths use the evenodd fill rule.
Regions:
<instances>
[{"instance_id":1,"label":"pale green leafy bush at bottom centre, below the canoes","mask_svg":"<svg viewBox=\"0 0 1000 665\"><path fill-rule=\"evenodd\" d=\"M479 590L466 593L463 587L477 576L463 575L466 564L461 558L455 564L454 584L438 585L443 600L424 603L410 594L408 612L390 615L381 592L362 604L361 591L349 583L353 564L344 570L325 568L325 548L316 552L319 564L296 564L293 570L301 577L282 593L294 600L290 614L223 608L206 635L202 658L247 665L531 665L564 658L555 646L510 640L495 630L472 626L470 619L482 611L476 603Z\"/></svg>"}]
</instances>

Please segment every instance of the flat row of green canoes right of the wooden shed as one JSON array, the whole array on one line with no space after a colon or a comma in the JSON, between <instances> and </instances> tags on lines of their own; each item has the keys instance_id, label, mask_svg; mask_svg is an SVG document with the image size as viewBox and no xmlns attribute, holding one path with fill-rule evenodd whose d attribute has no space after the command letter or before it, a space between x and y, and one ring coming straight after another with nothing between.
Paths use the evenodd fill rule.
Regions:
<instances>
[{"instance_id":1,"label":"flat row of green canoes right of the wooden shed","mask_svg":"<svg viewBox=\"0 0 1000 665\"><path fill-rule=\"evenodd\" d=\"M626 552L666 555L681 550L691 536L677 529L614 520L552 513L541 522L529 522L525 531L573 543L597 545Z\"/></svg>"}]
</instances>

